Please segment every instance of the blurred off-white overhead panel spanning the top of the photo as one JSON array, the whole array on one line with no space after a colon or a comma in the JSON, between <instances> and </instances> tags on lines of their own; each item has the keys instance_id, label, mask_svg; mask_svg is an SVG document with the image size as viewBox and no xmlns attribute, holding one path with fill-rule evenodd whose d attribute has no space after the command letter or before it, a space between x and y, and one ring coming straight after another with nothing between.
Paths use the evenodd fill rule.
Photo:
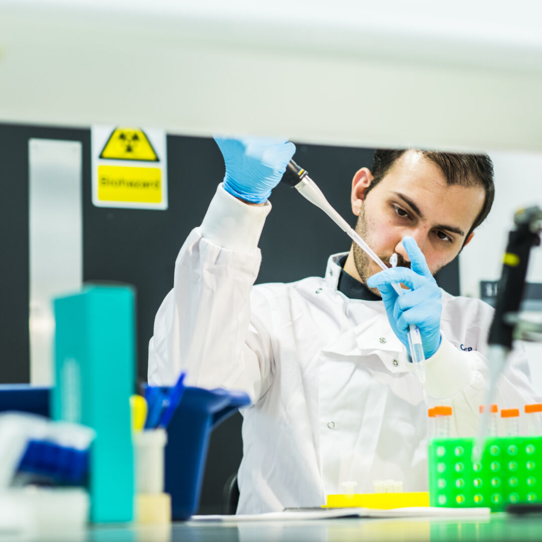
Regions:
<instances>
[{"instance_id":1,"label":"blurred off-white overhead panel spanning the top of the photo","mask_svg":"<svg viewBox=\"0 0 542 542\"><path fill-rule=\"evenodd\" d=\"M540 152L541 20L539 0L0 0L0 121Z\"/></svg>"}]
</instances>

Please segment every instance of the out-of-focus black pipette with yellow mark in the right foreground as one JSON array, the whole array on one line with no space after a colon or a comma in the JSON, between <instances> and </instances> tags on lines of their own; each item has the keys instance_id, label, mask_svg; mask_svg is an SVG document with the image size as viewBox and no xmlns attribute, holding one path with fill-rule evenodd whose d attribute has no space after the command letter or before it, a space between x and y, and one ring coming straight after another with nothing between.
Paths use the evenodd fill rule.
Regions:
<instances>
[{"instance_id":1,"label":"out-of-focus black pipette with yellow mark in the right foreground","mask_svg":"<svg viewBox=\"0 0 542 542\"><path fill-rule=\"evenodd\" d=\"M531 248L540 244L542 209L529 207L514 215L515 229L508 234L508 244L503 259L502 275L497 289L495 315L489 329L487 359L489 386L486 408L483 411L478 438L473 450L474 459L483 453L483 444L489 428L489 405L495 402L497 383L506 366L514 339L513 318L517 316L525 286L527 264Z\"/></svg>"}]
</instances>

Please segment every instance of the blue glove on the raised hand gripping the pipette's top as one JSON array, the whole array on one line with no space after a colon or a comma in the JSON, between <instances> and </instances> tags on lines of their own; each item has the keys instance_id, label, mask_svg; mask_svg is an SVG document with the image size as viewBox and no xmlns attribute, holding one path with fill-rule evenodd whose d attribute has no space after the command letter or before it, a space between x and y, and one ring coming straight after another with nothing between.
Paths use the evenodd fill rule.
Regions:
<instances>
[{"instance_id":1,"label":"blue glove on the raised hand gripping the pipette's top","mask_svg":"<svg viewBox=\"0 0 542 542\"><path fill-rule=\"evenodd\" d=\"M295 152L286 139L214 138L226 166L224 190L251 203L267 200Z\"/></svg>"}]
</instances>

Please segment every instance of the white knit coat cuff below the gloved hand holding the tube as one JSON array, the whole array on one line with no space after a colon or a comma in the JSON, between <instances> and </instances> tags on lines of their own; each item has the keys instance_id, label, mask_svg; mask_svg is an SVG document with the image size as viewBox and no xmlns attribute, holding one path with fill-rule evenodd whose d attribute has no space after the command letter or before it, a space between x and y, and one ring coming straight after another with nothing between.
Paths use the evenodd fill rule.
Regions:
<instances>
[{"instance_id":1,"label":"white knit coat cuff below the gloved hand holding the tube","mask_svg":"<svg viewBox=\"0 0 542 542\"><path fill-rule=\"evenodd\" d=\"M424 390L433 399L448 399L462 391L474 378L474 359L461 352L441 333L437 351L425 360Z\"/></svg>"}]
</instances>

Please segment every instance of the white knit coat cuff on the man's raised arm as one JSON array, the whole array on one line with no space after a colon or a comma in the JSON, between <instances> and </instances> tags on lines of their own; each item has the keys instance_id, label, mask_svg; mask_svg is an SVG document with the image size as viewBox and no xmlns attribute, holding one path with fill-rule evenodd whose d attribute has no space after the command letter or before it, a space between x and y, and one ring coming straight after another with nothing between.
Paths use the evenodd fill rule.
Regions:
<instances>
[{"instance_id":1,"label":"white knit coat cuff on the man's raised arm","mask_svg":"<svg viewBox=\"0 0 542 542\"><path fill-rule=\"evenodd\" d=\"M252 252L258 247L271 204L248 205L218 185L201 225L202 236L219 247Z\"/></svg>"}]
</instances>

